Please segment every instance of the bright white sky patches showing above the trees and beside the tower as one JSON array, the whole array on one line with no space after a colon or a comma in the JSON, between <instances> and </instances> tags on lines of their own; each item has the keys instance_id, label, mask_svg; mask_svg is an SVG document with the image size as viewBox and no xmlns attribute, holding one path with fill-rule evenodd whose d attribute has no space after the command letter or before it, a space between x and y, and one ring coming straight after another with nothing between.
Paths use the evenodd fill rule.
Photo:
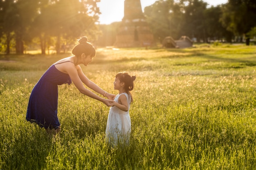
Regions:
<instances>
[{"instance_id":1,"label":"bright white sky patches showing above the trees and beside the tower","mask_svg":"<svg viewBox=\"0 0 256 170\"><path fill-rule=\"evenodd\" d=\"M141 8L152 5L157 0L141 0ZM228 0L203 0L209 6L216 6L218 4L225 4ZM101 0L97 3L101 15L99 15L100 24L111 24L112 22L121 21L124 17L124 0Z\"/></svg>"}]
</instances>

